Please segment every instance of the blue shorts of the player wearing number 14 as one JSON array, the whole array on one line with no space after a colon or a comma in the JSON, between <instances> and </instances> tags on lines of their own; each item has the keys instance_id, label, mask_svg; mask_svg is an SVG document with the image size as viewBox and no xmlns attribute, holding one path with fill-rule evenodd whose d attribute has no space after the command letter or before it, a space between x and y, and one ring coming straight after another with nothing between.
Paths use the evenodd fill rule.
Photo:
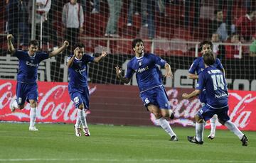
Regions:
<instances>
[{"instance_id":1,"label":"blue shorts of the player wearing number 14","mask_svg":"<svg viewBox=\"0 0 256 163\"><path fill-rule=\"evenodd\" d=\"M230 120L230 117L228 116L228 106L225 108L210 108L210 106L208 106L207 104L205 106L203 106L203 108L201 108L198 111L198 116L200 118L202 118L203 120L207 121L210 118L213 117L213 115L217 114L218 115L218 119L222 120L224 123L228 120Z\"/></svg>"}]
</instances>

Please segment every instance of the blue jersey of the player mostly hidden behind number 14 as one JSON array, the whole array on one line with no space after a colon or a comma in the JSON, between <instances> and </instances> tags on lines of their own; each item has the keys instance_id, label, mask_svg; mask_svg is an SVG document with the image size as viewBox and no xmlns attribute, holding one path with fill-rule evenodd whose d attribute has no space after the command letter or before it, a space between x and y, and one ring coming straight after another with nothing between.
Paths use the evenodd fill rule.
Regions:
<instances>
[{"instance_id":1,"label":"blue jersey of the player mostly hidden behind number 14","mask_svg":"<svg viewBox=\"0 0 256 163\"><path fill-rule=\"evenodd\" d=\"M215 63L213 64L214 67L217 69L220 69L221 71L224 69L223 65L221 64L220 60L216 58ZM203 72L203 69L205 69L205 65L203 62L203 57L198 57L196 60L193 61L193 64L191 64L191 67L188 69L188 72L190 74L200 74Z\"/></svg>"}]
</instances>

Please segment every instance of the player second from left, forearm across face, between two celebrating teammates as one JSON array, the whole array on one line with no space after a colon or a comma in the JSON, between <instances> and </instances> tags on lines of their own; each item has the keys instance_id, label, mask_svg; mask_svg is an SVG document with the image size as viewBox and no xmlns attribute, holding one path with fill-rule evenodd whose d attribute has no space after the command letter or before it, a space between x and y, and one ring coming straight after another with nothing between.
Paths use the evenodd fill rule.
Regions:
<instances>
[{"instance_id":1,"label":"player second from left, forearm across face, between two celebrating teammates","mask_svg":"<svg viewBox=\"0 0 256 163\"><path fill-rule=\"evenodd\" d=\"M107 52L102 51L99 57L92 57L85 54L85 45L77 43L75 50L67 59L68 66L68 92L71 100L78 108L78 116L75 123L75 135L81 136L80 123L85 136L90 136L90 131L85 118L85 110L89 109L89 90L87 84L87 64L89 62L100 62L107 56Z\"/></svg>"}]
</instances>

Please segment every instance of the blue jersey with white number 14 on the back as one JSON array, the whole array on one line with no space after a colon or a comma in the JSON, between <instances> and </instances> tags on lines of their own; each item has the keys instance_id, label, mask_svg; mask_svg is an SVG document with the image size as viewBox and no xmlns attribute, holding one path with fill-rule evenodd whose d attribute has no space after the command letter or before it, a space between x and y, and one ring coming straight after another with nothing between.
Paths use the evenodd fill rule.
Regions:
<instances>
[{"instance_id":1,"label":"blue jersey with white number 14 on the back","mask_svg":"<svg viewBox=\"0 0 256 163\"><path fill-rule=\"evenodd\" d=\"M209 66L199 74L196 89L206 88L207 105L210 108L224 108L228 106L228 89L223 72L214 66Z\"/></svg>"}]
</instances>

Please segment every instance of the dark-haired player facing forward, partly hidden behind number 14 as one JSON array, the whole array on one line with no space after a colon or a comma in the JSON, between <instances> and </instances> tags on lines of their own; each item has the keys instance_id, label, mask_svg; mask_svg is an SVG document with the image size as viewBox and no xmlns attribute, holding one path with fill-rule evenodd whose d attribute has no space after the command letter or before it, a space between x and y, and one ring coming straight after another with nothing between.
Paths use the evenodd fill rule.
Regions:
<instances>
[{"instance_id":1,"label":"dark-haired player facing forward, partly hidden behind number 14","mask_svg":"<svg viewBox=\"0 0 256 163\"><path fill-rule=\"evenodd\" d=\"M202 55L206 52L210 52L213 50L213 43L211 43L208 40L204 40L203 42L200 43L199 45L201 49ZM223 68L223 65L221 64L220 60L216 58L215 63L213 64L214 67L217 69L220 69L220 71L223 72L225 76L225 69ZM203 57L198 57L196 60L193 61L193 64L191 64L190 69L188 70L188 78L190 79L198 79L198 75L205 69L205 65L203 63ZM203 90L201 94L199 94L199 100L201 101L202 106L204 106L207 101L206 101L206 91ZM208 135L208 138L213 140L215 137L215 130L216 130L216 120L217 120L217 115L214 115L213 118L210 118L210 134Z\"/></svg>"}]
</instances>

